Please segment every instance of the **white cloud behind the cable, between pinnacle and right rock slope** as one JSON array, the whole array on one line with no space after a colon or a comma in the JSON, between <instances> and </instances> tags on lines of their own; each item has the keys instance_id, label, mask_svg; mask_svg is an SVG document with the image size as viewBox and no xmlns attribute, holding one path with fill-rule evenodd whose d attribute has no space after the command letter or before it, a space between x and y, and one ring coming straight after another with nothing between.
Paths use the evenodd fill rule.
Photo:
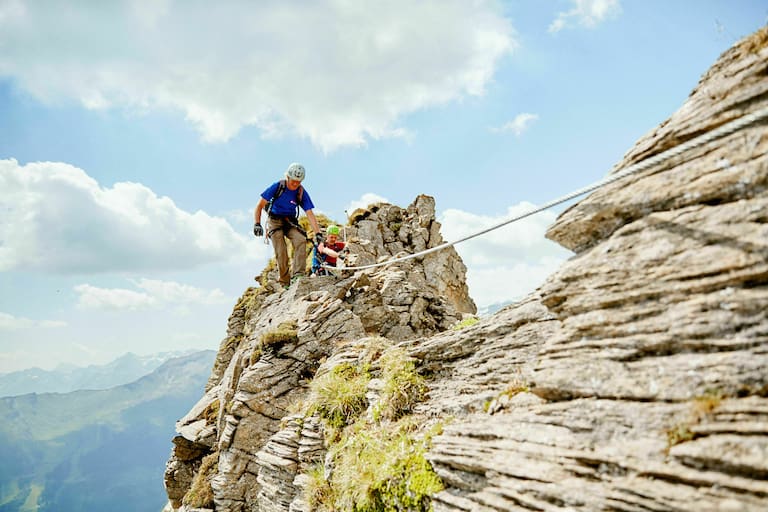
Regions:
<instances>
[{"instance_id":1,"label":"white cloud behind the cable, between pinnacle and right rock slope","mask_svg":"<svg viewBox=\"0 0 768 512\"><path fill-rule=\"evenodd\" d=\"M449 242L460 240L534 207L523 202L498 217L446 210L439 217L441 233ZM544 237L555 218L544 211L455 246L467 266L470 295L481 309L524 297L571 255Z\"/></svg>"}]
</instances>

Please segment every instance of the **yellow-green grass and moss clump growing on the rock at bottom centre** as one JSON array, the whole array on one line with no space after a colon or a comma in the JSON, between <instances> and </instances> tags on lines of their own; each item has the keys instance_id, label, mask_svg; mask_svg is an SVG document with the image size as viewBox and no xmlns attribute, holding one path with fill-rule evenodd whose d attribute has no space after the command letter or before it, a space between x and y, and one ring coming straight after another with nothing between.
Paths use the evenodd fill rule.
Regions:
<instances>
[{"instance_id":1,"label":"yellow-green grass and moss clump growing on the rock at bottom centre","mask_svg":"<svg viewBox=\"0 0 768 512\"><path fill-rule=\"evenodd\" d=\"M310 470L306 499L313 510L426 511L443 489L426 459L435 432L425 432L413 416L427 385L405 350L371 338L359 365L344 363L311 384L307 414L325 425L329 472ZM381 380L373 418L366 392L371 378Z\"/></svg>"}]
</instances>

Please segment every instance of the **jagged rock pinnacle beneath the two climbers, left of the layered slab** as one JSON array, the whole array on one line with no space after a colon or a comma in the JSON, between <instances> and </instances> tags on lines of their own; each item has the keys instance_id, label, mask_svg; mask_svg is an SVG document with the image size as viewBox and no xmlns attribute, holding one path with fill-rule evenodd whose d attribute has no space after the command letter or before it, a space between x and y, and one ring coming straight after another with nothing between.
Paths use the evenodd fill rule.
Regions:
<instances>
[{"instance_id":1,"label":"jagged rock pinnacle beneath the two climbers, left of the layered slab","mask_svg":"<svg viewBox=\"0 0 768 512\"><path fill-rule=\"evenodd\" d=\"M357 215L345 227L350 265L443 242L428 196L407 209L377 204ZM309 381L338 347L367 336L430 336L475 313L465 273L450 248L370 270L305 277L288 290L274 291L267 283L246 291L229 318L205 395L177 423L165 473L171 506L192 510L183 498L193 476L204 456L218 453L210 479L216 510L303 510L301 472L324 449L319 427L290 419L290 408L306 396ZM265 275L276 280L273 271ZM286 323L294 336L264 342Z\"/></svg>"}]
</instances>

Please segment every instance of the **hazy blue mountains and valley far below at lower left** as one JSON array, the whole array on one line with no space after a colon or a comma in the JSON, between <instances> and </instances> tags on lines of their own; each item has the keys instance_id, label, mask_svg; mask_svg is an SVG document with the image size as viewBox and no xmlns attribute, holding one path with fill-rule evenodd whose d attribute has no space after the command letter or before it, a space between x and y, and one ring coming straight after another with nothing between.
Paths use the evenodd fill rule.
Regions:
<instances>
[{"instance_id":1,"label":"hazy blue mountains and valley far below at lower left","mask_svg":"<svg viewBox=\"0 0 768 512\"><path fill-rule=\"evenodd\" d=\"M215 351L104 390L0 398L0 512L160 511L174 424Z\"/></svg>"}]
</instances>

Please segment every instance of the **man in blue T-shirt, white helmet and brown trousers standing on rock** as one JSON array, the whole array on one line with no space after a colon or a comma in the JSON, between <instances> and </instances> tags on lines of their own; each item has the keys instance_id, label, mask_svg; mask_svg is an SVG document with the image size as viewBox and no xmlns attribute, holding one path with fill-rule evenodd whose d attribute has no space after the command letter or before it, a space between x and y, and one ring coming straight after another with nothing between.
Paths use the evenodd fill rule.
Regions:
<instances>
[{"instance_id":1,"label":"man in blue T-shirt, white helmet and brown trousers standing on rock","mask_svg":"<svg viewBox=\"0 0 768 512\"><path fill-rule=\"evenodd\" d=\"M275 258L277 259L277 268L280 271L280 284L288 288L304 275L306 270L306 243L307 233L299 226L299 207L307 214L310 226L315 232L317 243L322 242L323 235L320 233L320 227L312 209L312 199L309 193L302 187L306 171L301 164L293 163L285 171L285 180L280 180L270 185L261 193L261 199L254 210L253 234L256 236L264 235L264 228L261 226L261 212L267 207L269 223L267 227L267 237L272 241L275 248ZM288 238L293 245L293 265L288 268L288 249L285 244L285 238Z\"/></svg>"}]
</instances>

